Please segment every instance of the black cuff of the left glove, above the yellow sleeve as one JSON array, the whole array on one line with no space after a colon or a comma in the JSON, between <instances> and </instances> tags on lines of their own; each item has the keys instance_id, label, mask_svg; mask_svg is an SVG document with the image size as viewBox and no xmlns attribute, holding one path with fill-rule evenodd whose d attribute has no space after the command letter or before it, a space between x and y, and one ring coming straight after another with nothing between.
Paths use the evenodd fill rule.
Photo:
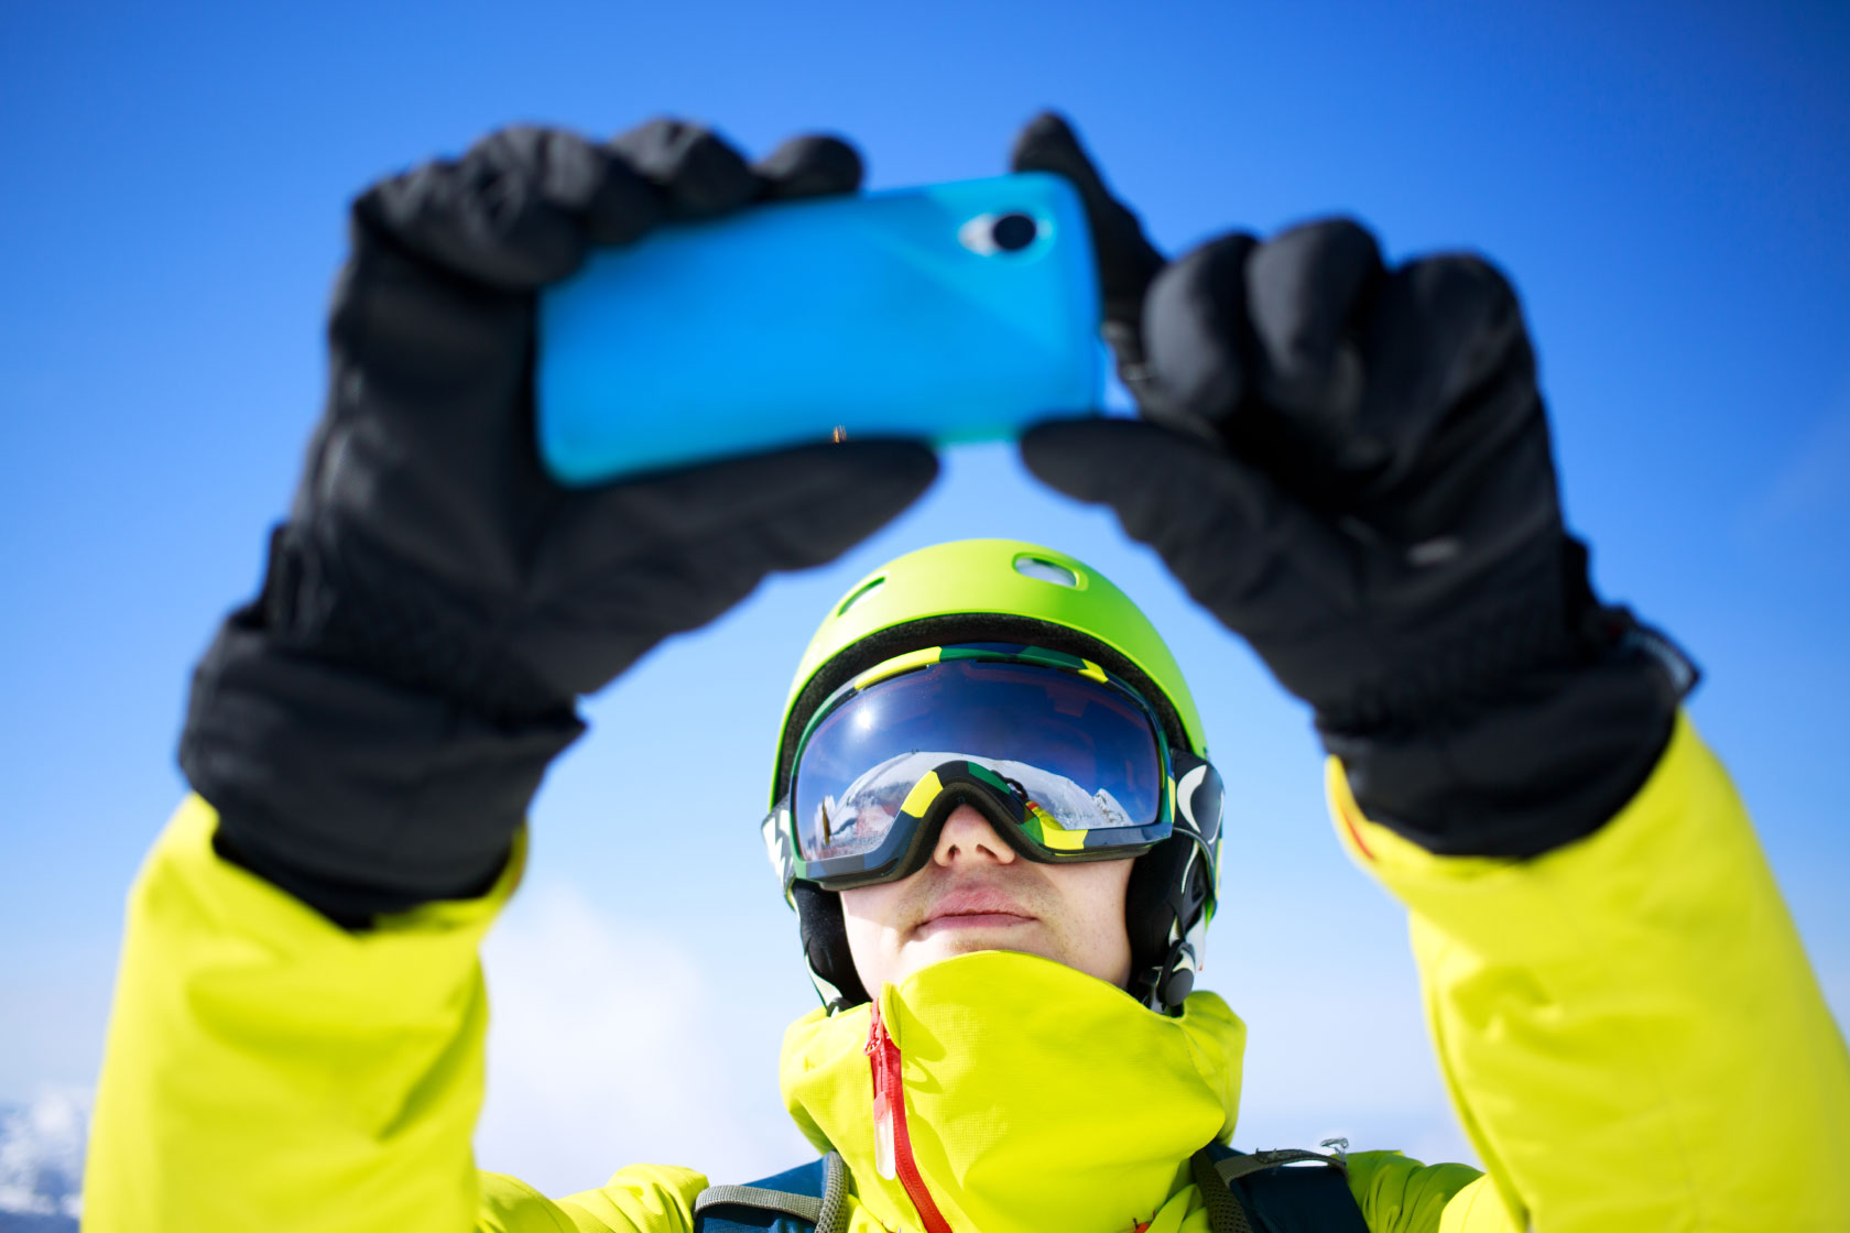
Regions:
<instances>
[{"instance_id":1,"label":"black cuff of the left glove, above the yellow sleeve","mask_svg":"<svg viewBox=\"0 0 1850 1233\"><path fill-rule=\"evenodd\" d=\"M179 767L218 812L220 856L363 928L487 889L583 730L570 704L488 717L278 645L252 604L194 671Z\"/></svg>"}]
</instances>

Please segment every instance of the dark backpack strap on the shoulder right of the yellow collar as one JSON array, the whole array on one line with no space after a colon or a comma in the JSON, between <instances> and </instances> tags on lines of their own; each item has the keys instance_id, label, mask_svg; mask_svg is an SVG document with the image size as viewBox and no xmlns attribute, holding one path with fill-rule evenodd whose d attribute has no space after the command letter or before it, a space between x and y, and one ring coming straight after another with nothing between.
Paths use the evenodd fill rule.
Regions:
<instances>
[{"instance_id":1,"label":"dark backpack strap on the shoulder right of the yellow collar","mask_svg":"<svg viewBox=\"0 0 1850 1233\"><path fill-rule=\"evenodd\" d=\"M1308 1161L1323 1166L1301 1165ZM1214 1233L1367 1233L1341 1152L1247 1154L1210 1142L1190 1168Z\"/></svg>"}]
</instances>

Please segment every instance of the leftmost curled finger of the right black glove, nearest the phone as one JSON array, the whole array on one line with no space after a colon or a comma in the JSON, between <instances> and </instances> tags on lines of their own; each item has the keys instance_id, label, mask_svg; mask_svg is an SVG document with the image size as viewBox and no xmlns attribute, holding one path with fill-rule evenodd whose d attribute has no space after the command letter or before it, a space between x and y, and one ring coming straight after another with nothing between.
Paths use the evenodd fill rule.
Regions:
<instances>
[{"instance_id":1,"label":"leftmost curled finger of the right black glove, nearest the phone","mask_svg":"<svg viewBox=\"0 0 1850 1233\"><path fill-rule=\"evenodd\" d=\"M1149 392L1143 414L1228 436L1252 394L1247 262L1258 240L1225 235L1169 264L1143 305Z\"/></svg>"}]
</instances>

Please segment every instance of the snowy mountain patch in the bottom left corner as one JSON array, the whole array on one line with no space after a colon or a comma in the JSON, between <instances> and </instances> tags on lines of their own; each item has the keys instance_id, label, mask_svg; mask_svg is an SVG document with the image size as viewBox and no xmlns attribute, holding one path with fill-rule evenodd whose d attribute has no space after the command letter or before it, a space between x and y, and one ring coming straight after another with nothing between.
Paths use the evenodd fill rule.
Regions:
<instances>
[{"instance_id":1,"label":"snowy mountain patch in the bottom left corner","mask_svg":"<svg viewBox=\"0 0 1850 1233\"><path fill-rule=\"evenodd\" d=\"M78 1233L91 1094L0 1105L0 1233Z\"/></svg>"}]
</instances>

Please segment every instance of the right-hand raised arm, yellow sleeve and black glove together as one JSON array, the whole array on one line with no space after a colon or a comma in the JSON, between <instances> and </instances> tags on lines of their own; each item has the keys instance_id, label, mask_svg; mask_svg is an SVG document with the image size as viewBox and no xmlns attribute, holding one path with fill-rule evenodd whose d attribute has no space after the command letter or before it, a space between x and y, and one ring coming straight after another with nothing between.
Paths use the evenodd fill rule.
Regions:
<instances>
[{"instance_id":1,"label":"right-hand raised arm, yellow sleeve and black glove together","mask_svg":"<svg viewBox=\"0 0 1850 1233\"><path fill-rule=\"evenodd\" d=\"M1589 588L1504 277L1389 266L1347 220L1166 264L1064 124L1018 165L1084 190L1143 412L1043 425L1029 468L1110 505L1310 702L1339 830L1410 908L1500 1194L1413 1227L1833 1227L1843 1037L1680 719L1693 669Z\"/></svg>"}]
</instances>

